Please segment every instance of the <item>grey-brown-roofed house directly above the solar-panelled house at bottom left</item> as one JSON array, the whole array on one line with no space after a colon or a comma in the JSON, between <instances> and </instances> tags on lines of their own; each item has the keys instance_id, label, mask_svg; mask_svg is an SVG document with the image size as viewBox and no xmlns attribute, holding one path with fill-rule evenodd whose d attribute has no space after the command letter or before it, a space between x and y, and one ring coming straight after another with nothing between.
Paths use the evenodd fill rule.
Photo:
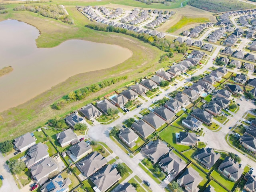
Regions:
<instances>
[{"instance_id":1,"label":"grey-brown-roofed house directly above the solar-panelled house at bottom left","mask_svg":"<svg viewBox=\"0 0 256 192\"><path fill-rule=\"evenodd\" d=\"M55 164L52 158L48 157L33 165L30 169L34 180L36 180L38 184L42 185L48 180L47 176L50 173L58 170L58 166Z\"/></svg>"}]
</instances>

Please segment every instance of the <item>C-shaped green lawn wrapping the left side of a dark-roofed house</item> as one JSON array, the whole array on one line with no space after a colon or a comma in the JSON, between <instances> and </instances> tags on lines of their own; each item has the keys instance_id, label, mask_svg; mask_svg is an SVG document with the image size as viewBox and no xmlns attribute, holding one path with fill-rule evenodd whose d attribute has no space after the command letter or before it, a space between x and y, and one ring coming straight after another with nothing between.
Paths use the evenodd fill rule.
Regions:
<instances>
[{"instance_id":1,"label":"C-shaped green lawn wrapping the left side of a dark-roofed house","mask_svg":"<svg viewBox=\"0 0 256 192\"><path fill-rule=\"evenodd\" d=\"M162 140L170 144L172 147L176 148L178 151L184 151L187 149L190 149L189 146L186 145L178 145L176 144L176 138L175 133L179 133L180 131L183 131L183 129L176 128L174 126L168 126L165 128L162 132L160 132L159 136Z\"/></svg>"}]
</instances>

